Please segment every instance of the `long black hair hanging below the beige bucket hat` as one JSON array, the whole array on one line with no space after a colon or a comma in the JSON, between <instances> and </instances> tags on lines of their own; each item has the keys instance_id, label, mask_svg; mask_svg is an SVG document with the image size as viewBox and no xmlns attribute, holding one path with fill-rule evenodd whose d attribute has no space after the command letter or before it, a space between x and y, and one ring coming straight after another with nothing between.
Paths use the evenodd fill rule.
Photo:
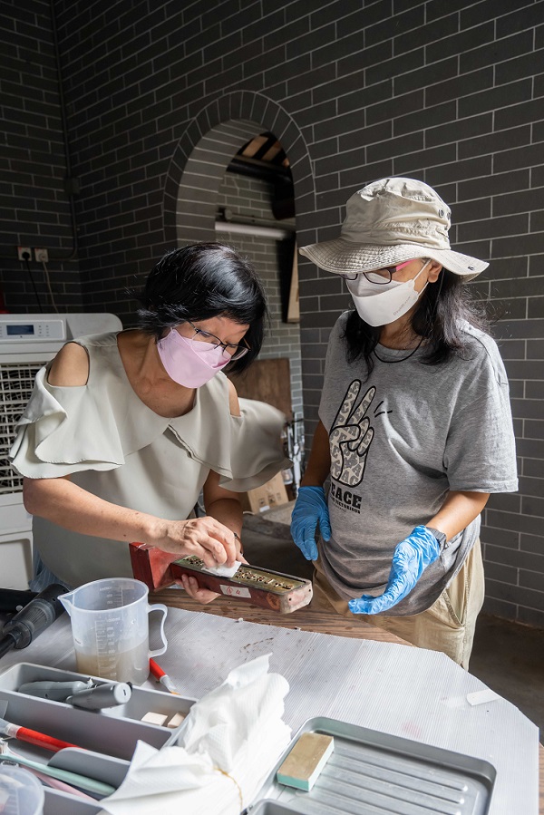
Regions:
<instances>
[{"instance_id":1,"label":"long black hair hanging below the beige bucket hat","mask_svg":"<svg viewBox=\"0 0 544 815\"><path fill-rule=\"evenodd\" d=\"M462 329L463 320L489 333L490 320L485 308L472 298L459 275L442 268L438 280L426 286L412 316L413 331L426 340L419 361L426 365L440 365L452 356L468 353L472 341ZM355 310L347 318L344 332L347 359L354 363L363 358L367 379L374 368L373 352L380 333L380 326L368 325Z\"/></svg>"}]
</instances>

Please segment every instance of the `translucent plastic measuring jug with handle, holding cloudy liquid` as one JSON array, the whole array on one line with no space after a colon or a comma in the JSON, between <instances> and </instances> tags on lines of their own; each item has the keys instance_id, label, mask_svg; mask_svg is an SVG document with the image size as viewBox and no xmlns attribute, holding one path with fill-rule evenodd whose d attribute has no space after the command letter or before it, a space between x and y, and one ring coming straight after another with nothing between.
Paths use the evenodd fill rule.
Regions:
<instances>
[{"instance_id":1,"label":"translucent plastic measuring jug with handle, holding cloudy liquid","mask_svg":"<svg viewBox=\"0 0 544 815\"><path fill-rule=\"evenodd\" d=\"M149 589L140 580L107 577L75 588L59 600L72 622L73 646L80 674L141 684L150 673L150 656L167 647L167 608L150 606ZM160 611L162 647L150 651L151 611Z\"/></svg>"}]
</instances>

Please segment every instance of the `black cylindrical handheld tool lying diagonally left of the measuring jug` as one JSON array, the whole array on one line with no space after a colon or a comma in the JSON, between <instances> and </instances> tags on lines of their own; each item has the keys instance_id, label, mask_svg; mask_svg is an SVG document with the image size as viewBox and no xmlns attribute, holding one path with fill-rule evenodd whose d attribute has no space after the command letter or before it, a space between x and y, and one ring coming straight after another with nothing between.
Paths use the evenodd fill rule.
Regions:
<instances>
[{"instance_id":1,"label":"black cylindrical handheld tool lying diagonally left of the measuring jug","mask_svg":"<svg viewBox=\"0 0 544 815\"><path fill-rule=\"evenodd\" d=\"M58 597L66 594L66 590L60 583L53 583L7 621L0 636L0 658L13 648L26 648L63 614L64 606Z\"/></svg>"}]
</instances>

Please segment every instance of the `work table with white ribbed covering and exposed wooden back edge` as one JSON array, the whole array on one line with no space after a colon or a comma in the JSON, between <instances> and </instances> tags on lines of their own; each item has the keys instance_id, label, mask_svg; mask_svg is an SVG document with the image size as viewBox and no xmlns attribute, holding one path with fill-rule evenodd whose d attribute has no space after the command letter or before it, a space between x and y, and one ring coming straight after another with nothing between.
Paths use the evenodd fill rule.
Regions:
<instances>
[{"instance_id":1,"label":"work table with white ribbed covering and exposed wooden back edge","mask_svg":"<svg viewBox=\"0 0 544 815\"><path fill-rule=\"evenodd\" d=\"M502 698L471 705L467 694L486 686L447 656L309 608L277 615L226 598L199 606L174 589L150 601L170 606L169 648L158 661L181 694L199 698L232 668L271 654L270 670L290 685L284 720L293 733L325 716L480 758L497 770L490 815L538 815L537 726ZM68 616L6 655L0 670L18 662L74 670Z\"/></svg>"}]
</instances>

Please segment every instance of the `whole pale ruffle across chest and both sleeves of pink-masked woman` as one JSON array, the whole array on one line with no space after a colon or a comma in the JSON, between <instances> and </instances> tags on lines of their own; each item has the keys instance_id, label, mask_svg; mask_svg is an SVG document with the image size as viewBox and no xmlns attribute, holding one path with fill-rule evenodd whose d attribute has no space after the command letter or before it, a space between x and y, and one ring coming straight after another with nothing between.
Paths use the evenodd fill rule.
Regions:
<instances>
[{"instance_id":1,"label":"whole pale ruffle across chest and both sleeves of pink-masked woman","mask_svg":"<svg viewBox=\"0 0 544 815\"><path fill-rule=\"evenodd\" d=\"M284 414L240 399L241 415L230 415L224 374L198 389L193 410L169 419L141 403L115 367L102 364L92 373L92 386L58 387L47 382L47 368L38 372L10 451L21 475L44 479L111 471L155 443L160 471L183 468L181 447L234 492L252 490L290 466L281 441Z\"/></svg>"}]
</instances>

